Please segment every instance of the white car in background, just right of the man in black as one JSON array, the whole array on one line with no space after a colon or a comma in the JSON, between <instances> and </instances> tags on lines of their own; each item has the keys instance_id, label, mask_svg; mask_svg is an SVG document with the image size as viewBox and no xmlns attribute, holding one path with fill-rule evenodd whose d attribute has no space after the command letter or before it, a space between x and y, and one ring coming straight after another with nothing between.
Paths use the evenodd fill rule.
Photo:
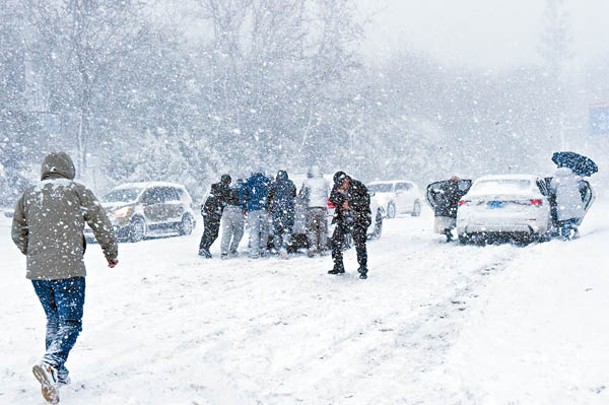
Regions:
<instances>
[{"instance_id":1,"label":"white car in background, just right of the man in black","mask_svg":"<svg viewBox=\"0 0 609 405\"><path fill-rule=\"evenodd\" d=\"M397 214L404 213L413 217L421 214L421 192L412 181L373 181L366 184L366 187L383 207L387 218L394 218Z\"/></svg>"}]
</instances>

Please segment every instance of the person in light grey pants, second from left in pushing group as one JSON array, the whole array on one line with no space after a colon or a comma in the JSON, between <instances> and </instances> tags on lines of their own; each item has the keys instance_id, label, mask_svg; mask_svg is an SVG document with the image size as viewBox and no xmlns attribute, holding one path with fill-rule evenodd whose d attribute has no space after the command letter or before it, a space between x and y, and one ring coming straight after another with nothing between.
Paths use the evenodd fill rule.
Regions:
<instances>
[{"instance_id":1,"label":"person in light grey pants, second from left in pushing group","mask_svg":"<svg viewBox=\"0 0 609 405\"><path fill-rule=\"evenodd\" d=\"M220 244L222 259L238 255L237 249L243 238L247 208L244 193L243 179L238 179L236 185L230 188L222 215L222 241Z\"/></svg>"}]
</instances>

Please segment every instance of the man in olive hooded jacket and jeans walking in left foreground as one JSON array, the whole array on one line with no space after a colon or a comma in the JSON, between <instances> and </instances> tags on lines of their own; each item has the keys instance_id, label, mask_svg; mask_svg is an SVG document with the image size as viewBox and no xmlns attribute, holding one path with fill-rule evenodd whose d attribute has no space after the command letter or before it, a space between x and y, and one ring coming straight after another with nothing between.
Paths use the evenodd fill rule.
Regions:
<instances>
[{"instance_id":1,"label":"man in olive hooded jacket and jeans walking in left foreground","mask_svg":"<svg viewBox=\"0 0 609 405\"><path fill-rule=\"evenodd\" d=\"M74 182L75 168L68 154L47 155L41 175L41 181L17 201L11 234L27 257L26 277L32 280L47 319L46 352L33 373L44 398L57 403L59 385L69 383L66 360L82 330L85 223L111 268L118 264L118 245L93 192Z\"/></svg>"}]
</instances>

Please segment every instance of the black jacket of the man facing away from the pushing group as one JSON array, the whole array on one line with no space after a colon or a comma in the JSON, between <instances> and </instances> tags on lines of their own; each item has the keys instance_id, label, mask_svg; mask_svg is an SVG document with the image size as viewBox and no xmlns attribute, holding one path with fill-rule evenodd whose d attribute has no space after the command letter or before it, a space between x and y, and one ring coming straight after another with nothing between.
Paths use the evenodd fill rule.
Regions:
<instances>
[{"instance_id":1,"label":"black jacket of the man facing away from the pushing group","mask_svg":"<svg viewBox=\"0 0 609 405\"><path fill-rule=\"evenodd\" d=\"M330 203L335 207L332 223L347 224L353 221L355 224L368 228L372 223L370 211L370 194L368 188L361 181L349 178L349 188L345 193L338 190L340 182L334 183L330 192ZM349 209L343 209L344 202L349 203Z\"/></svg>"}]
</instances>

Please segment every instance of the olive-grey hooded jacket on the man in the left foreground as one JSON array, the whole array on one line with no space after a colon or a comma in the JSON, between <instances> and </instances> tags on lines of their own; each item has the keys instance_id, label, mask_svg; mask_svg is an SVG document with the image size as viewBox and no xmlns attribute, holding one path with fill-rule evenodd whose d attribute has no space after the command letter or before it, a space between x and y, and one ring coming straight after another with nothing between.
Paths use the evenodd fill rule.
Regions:
<instances>
[{"instance_id":1,"label":"olive-grey hooded jacket on the man in the left foreground","mask_svg":"<svg viewBox=\"0 0 609 405\"><path fill-rule=\"evenodd\" d=\"M15 205L12 238L27 256L28 279L58 280L86 274L84 227L87 223L106 259L116 259L112 224L91 190L74 181L72 159L64 152L44 158L41 181Z\"/></svg>"}]
</instances>

